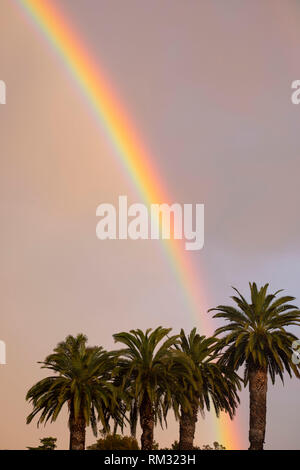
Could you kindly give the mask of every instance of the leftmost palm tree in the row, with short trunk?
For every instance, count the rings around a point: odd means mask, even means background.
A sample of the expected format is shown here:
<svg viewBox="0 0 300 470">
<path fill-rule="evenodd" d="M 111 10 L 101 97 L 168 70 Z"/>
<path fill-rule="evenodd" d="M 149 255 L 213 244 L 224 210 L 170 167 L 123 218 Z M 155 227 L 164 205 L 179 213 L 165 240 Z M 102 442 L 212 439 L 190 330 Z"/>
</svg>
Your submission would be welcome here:
<svg viewBox="0 0 300 470">
<path fill-rule="evenodd" d="M 96 435 L 97 419 L 108 428 L 109 417 L 116 410 L 110 379 L 115 359 L 101 347 L 88 347 L 86 343 L 83 334 L 68 336 L 59 343 L 41 362 L 43 369 L 55 375 L 37 382 L 26 396 L 33 405 L 27 424 L 39 413 L 38 425 L 53 422 L 68 405 L 70 450 L 84 450 L 86 426 L 91 424 Z"/>
</svg>

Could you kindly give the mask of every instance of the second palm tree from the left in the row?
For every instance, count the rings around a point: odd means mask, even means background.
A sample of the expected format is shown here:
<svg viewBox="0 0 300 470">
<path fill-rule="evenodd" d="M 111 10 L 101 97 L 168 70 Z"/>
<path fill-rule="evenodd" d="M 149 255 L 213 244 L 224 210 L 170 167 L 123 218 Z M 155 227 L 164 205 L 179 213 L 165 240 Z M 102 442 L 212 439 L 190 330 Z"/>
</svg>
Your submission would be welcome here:
<svg viewBox="0 0 300 470">
<path fill-rule="evenodd" d="M 119 377 L 123 377 L 123 383 L 127 385 L 131 415 L 135 414 L 135 406 L 139 412 L 142 450 L 152 449 L 154 424 L 165 417 L 166 396 L 171 396 L 176 385 L 170 348 L 178 342 L 178 335 L 168 338 L 170 331 L 171 328 L 159 326 L 154 331 L 149 328 L 145 333 L 137 329 L 113 335 L 116 342 L 126 346 L 117 351 Z M 133 429 L 134 424 L 131 422 Z"/>
</svg>

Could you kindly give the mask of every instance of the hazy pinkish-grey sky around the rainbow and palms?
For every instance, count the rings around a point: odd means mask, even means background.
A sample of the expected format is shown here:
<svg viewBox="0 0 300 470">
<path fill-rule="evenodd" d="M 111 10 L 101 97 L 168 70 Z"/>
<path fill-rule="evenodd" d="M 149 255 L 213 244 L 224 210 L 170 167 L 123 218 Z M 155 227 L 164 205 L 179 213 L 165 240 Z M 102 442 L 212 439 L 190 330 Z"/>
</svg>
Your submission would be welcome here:
<svg viewBox="0 0 300 470">
<path fill-rule="evenodd" d="M 67 448 L 67 416 L 46 429 L 25 424 L 29 387 L 67 334 L 114 348 L 132 328 L 197 326 L 230 302 L 231 286 L 270 283 L 300 298 L 300 79 L 296 0 L 61 0 L 64 15 L 109 77 L 174 202 L 204 203 L 204 248 L 190 254 L 199 313 L 151 240 L 96 238 L 96 207 L 140 202 L 104 129 L 60 57 L 17 0 L 1 0 L 0 216 L 2 293 L 0 448 L 54 435 Z M 201 329 L 202 328 L 202 329 Z M 295 331 L 296 332 L 296 331 Z M 299 448 L 299 383 L 269 384 L 267 449 Z M 234 420 L 248 447 L 248 393 Z M 216 439 L 199 418 L 195 443 Z M 217 436 L 218 437 L 218 436 Z M 155 430 L 161 446 L 178 423 Z M 88 431 L 88 444 L 94 438 Z M 222 443 L 222 442 L 221 442 Z"/>
</svg>

